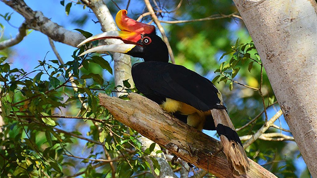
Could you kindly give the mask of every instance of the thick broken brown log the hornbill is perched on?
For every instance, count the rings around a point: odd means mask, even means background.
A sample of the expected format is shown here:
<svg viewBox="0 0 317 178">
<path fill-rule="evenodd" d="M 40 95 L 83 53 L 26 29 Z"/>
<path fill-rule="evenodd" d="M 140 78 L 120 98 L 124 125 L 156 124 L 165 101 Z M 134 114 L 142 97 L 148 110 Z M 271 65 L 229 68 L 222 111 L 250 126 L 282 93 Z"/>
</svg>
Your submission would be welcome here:
<svg viewBox="0 0 317 178">
<path fill-rule="evenodd" d="M 276 177 L 250 159 L 250 170 L 246 175 L 233 175 L 226 156 L 219 151 L 222 149 L 219 141 L 172 118 L 163 112 L 159 105 L 141 95 L 130 93 L 129 98 L 130 100 L 126 101 L 99 94 L 100 104 L 118 121 L 219 178 Z"/>
</svg>

